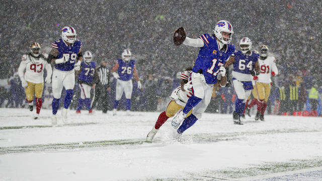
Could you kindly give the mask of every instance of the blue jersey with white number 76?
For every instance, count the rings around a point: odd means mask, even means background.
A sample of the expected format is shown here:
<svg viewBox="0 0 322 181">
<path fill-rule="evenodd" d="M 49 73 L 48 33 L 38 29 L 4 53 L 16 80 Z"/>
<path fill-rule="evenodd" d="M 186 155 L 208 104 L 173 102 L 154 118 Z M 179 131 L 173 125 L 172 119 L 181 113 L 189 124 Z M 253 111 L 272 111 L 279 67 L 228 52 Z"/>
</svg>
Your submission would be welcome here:
<svg viewBox="0 0 322 181">
<path fill-rule="evenodd" d="M 119 63 L 119 76 L 121 80 L 130 80 L 132 79 L 133 69 L 135 65 L 135 60 L 124 61 L 122 59 L 117 59 Z"/>
</svg>

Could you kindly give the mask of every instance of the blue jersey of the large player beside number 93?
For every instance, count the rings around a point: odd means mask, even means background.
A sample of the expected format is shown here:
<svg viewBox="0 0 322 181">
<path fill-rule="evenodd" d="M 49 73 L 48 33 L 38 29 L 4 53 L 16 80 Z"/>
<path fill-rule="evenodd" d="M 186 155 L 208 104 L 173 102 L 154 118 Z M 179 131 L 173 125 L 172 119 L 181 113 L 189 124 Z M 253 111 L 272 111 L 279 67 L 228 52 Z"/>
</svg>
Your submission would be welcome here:
<svg viewBox="0 0 322 181">
<path fill-rule="evenodd" d="M 62 71 L 72 70 L 74 68 L 75 61 L 77 61 L 77 53 L 82 47 L 82 42 L 76 40 L 72 45 L 68 46 L 62 39 L 59 39 L 52 43 L 52 47 L 58 49 L 59 53 L 56 57 L 57 59 L 62 58 L 63 54 L 69 54 L 69 60 L 65 63 L 55 64 L 55 68 Z"/>
</svg>

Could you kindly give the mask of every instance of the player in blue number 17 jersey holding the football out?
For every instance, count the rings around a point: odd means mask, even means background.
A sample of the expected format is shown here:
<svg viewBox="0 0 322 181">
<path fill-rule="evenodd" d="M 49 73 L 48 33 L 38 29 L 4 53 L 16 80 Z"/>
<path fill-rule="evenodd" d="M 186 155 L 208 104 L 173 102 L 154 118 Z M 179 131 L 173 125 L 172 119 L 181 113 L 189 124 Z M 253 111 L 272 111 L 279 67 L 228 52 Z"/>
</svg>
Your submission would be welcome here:
<svg viewBox="0 0 322 181">
<path fill-rule="evenodd" d="M 184 120 L 181 126 L 183 129 L 177 130 L 178 136 L 201 118 L 202 113 L 210 103 L 213 84 L 217 82 L 217 75 L 220 73 L 226 79 L 226 70 L 223 65 L 235 51 L 235 46 L 230 44 L 232 34 L 231 24 L 228 21 L 221 20 L 216 23 L 212 35 L 202 34 L 197 39 L 185 38 L 183 44 L 199 47 L 200 50 L 191 73 L 193 95 L 188 99 L 185 108 L 179 111 L 172 120 L 172 126 L 175 129 Z M 222 87 L 226 85 L 226 81 L 223 82 L 220 84 Z M 193 109 L 192 114 L 185 119 L 191 109 Z"/>
</svg>

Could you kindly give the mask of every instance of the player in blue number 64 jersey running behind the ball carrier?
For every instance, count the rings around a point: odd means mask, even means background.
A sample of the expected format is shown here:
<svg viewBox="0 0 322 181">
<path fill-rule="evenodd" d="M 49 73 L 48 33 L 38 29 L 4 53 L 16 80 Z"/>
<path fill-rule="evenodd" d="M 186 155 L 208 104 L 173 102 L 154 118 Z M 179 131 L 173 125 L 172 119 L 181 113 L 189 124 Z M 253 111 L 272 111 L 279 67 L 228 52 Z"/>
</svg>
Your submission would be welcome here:
<svg viewBox="0 0 322 181">
<path fill-rule="evenodd" d="M 237 95 L 233 112 L 234 124 L 243 124 L 240 122 L 240 116 L 243 115 L 247 98 L 254 88 L 253 76 L 260 74 L 259 54 L 252 51 L 252 44 L 248 37 L 241 38 L 240 50 L 234 52 L 225 64 L 225 67 L 233 64 L 232 84 Z"/>
</svg>

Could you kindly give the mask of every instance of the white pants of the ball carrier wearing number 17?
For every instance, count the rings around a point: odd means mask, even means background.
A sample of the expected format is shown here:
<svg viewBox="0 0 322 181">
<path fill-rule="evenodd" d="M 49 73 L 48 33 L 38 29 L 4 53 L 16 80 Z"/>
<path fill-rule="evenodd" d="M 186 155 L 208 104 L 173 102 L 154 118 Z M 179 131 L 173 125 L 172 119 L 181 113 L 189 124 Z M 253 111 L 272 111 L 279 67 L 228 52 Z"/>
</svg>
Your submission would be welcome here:
<svg viewBox="0 0 322 181">
<path fill-rule="evenodd" d="M 203 75 L 198 76 L 194 72 L 191 74 L 194 96 L 202 99 L 192 110 L 192 114 L 198 119 L 201 118 L 210 103 L 213 88 L 213 85 L 206 83 L 203 78 Z"/>
</svg>

